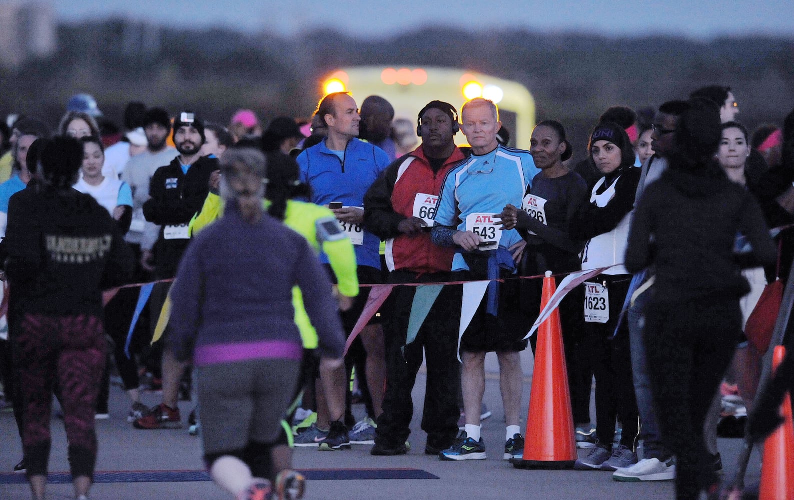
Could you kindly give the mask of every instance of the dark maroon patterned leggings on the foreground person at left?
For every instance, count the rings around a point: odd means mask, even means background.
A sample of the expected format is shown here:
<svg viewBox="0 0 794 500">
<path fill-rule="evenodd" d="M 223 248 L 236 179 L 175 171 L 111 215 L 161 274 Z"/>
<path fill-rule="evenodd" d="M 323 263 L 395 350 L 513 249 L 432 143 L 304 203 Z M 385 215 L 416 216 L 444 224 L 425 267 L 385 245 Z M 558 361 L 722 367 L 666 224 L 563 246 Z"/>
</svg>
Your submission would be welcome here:
<svg viewBox="0 0 794 500">
<path fill-rule="evenodd" d="M 93 478 L 97 456 L 94 411 L 105 367 L 102 318 L 90 314 L 21 317 L 19 344 L 24 401 L 22 448 L 27 475 L 46 475 L 50 452 L 52 390 L 64 406 L 72 477 Z"/>
</svg>

